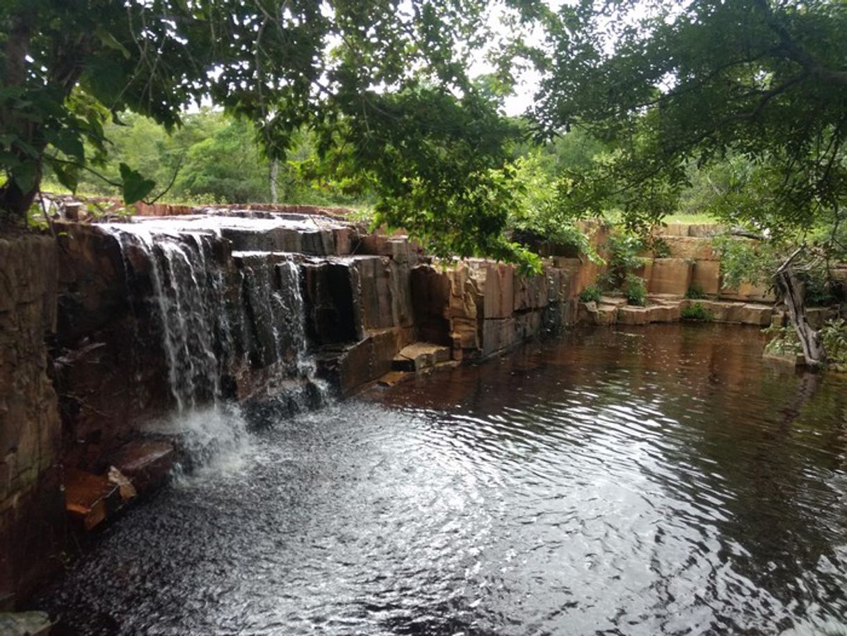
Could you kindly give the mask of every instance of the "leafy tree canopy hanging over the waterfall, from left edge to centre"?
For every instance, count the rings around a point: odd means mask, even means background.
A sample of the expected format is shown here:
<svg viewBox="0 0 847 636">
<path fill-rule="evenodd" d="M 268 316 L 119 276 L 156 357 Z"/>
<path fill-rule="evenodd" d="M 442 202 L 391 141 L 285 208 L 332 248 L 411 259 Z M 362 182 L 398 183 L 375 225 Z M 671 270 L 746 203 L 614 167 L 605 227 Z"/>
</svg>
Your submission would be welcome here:
<svg viewBox="0 0 847 636">
<path fill-rule="evenodd" d="M 469 234 L 512 254 L 501 168 L 516 131 L 463 65 L 490 42 L 486 10 L 484 0 L 7 0 L 0 210 L 23 218 L 46 166 L 72 190 L 80 170 L 97 170 L 109 118 L 131 110 L 173 130 L 211 99 L 252 122 L 271 161 L 303 126 L 322 153 L 342 144 L 346 170 L 379 181 L 385 220 L 441 249 L 478 251 Z M 118 177 L 127 202 L 155 187 L 128 163 Z M 454 205 L 468 214 L 457 220 Z"/>
</svg>

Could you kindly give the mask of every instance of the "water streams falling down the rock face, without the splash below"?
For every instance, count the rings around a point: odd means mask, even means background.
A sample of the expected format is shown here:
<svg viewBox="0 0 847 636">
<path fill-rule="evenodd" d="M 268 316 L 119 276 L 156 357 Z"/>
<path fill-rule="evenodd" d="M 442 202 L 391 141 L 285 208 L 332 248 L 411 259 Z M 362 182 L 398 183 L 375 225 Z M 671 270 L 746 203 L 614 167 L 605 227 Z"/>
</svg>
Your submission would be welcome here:
<svg viewBox="0 0 847 636">
<path fill-rule="evenodd" d="M 314 382 L 295 254 L 227 253 L 210 233 L 105 228 L 121 246 L 133 314 L 158 328 L 177 411 L 303 393 Z"/>
</svg>

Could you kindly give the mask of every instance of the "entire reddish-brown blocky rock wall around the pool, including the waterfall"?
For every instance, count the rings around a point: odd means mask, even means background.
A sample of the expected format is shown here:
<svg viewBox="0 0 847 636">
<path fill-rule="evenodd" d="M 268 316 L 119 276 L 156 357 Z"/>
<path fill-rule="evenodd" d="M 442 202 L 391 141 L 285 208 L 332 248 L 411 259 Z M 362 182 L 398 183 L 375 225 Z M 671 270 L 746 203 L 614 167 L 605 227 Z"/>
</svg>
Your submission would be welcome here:
<svg viewBox="0 0 847 636">
<path fill-rule="evenodd" d="M 405 237 L 363 236 L 319 209 L 146 212 L 174 216 L 66 222 L 58 243 L 0 241 L 0 605 L 47 570 L 60 544 L 60 463 L 66 481 L 79 477 L 67 482 L 69 503 L 96 524 L 111 499 L 89 501 L 80 484 L 108 485 L 111 466 L 136 480 L 148 447 L 153 464 L 172 461 L 173 446 L 139 436 L 175 408 L 215 395 L 248 410 L 285 395 L 294 408 L 312 399 L 313 374 L 346 395 L 577 321 L 676 321 L 694 283 L 716 297 L 703 302 L 717 320 L 765 325 L 772 315 L 749 303 L 767 299 L 762 290 L 717 299 L 726 292 L 709 226 L 669 228 L 670 256 L 641 272 L 657 299 L 634 308 L 579 303 L 604 271 L 588 259 L 551 256 L 540 275 L 523 276 L 484 259 L 435 264 Z M 606 229 L 589 229 L 603 254 Z"/>
</svg>

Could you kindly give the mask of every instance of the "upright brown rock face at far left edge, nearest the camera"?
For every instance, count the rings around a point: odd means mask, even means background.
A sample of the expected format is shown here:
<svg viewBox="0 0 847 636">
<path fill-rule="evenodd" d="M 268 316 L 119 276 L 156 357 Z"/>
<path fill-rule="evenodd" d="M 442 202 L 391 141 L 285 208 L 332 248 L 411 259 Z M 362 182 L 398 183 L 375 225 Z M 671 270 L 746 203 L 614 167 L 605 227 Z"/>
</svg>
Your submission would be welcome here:
<svg viewBox="0 0 847 636">
<path fill-rule="evenodd" d="M 60 423 L 48 377 L 56 243 L 0 238 L 0 609 L 51 567 L 61 544 Z"/>
</svg>

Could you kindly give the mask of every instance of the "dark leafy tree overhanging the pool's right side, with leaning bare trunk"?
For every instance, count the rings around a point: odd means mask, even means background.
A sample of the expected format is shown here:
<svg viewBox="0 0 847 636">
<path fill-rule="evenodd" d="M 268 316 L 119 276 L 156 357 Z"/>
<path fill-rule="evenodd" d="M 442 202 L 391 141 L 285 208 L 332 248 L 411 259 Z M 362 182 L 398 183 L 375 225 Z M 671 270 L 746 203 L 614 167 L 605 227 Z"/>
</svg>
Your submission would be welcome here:
<svg viewBox="0 0 847 636">
<path fill-rule="evenodd" d="M 678 205 L 690 167 L 741 155 L 752 170 L 722 218 L 769 241 L 841 250 L 847 199 L 847 4 L 839 0 L 580 0 L 547 14 L 551 71 L 535 115 L 615 146 L 574 176 L 563 204 L 591 214 L 617 198 L 630 226 Z M 789 254 L 775 272 L 806 361 L 825 353 L 805 322 Z M 843 250 L 842 250 L 843 251 Z"/>
</svg>

